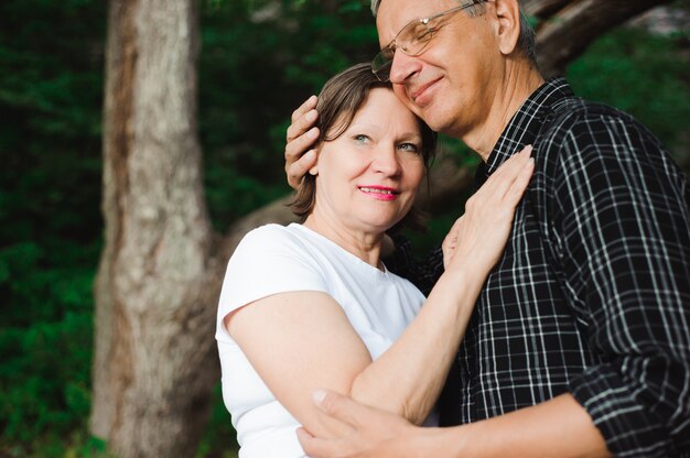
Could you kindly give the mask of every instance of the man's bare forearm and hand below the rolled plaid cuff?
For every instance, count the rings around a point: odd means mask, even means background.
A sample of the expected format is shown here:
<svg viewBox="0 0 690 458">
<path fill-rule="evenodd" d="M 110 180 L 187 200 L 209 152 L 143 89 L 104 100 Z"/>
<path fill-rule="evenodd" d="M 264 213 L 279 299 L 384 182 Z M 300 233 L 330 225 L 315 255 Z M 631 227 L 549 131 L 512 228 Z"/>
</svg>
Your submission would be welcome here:
<svg viewBox="0 0 690 458">
<path fill-rule="evenodd" d="M 387 412 L 333 392 L 319 391 L 316 405 L 347 425 L 336 438 L 304 429 L 298 437 L 314 458 L 505 458 L 608 457 L 589 414 L 569 394 L 506 415 L 452 428 L 420 428 Z"/>
</svg>

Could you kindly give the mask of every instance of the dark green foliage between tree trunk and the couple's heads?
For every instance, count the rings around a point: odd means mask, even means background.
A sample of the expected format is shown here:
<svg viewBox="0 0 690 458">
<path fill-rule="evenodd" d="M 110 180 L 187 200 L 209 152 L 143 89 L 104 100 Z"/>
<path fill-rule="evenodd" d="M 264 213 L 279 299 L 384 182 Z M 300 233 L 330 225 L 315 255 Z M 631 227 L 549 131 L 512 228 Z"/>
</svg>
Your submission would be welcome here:
<svg viewBox="0 0 690 458">
<path fill-rule="evenodd" d="M 202 3 L 200 135 L 219 230 L 289 192 L 289 115 L 334 73 L 375 53 L 366 0 L 339 2 L 337 14 L 321 3 Z"/>
</svg>

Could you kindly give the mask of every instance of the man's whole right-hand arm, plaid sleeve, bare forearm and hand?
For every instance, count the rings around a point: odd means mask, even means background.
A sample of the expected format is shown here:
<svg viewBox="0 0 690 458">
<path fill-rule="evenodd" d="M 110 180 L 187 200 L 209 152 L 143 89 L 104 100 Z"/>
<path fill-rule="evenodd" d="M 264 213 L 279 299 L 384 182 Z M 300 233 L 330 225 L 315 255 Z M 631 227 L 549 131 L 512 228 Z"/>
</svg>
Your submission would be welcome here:
<svg viewBox="0 0 690 458">
<path fill-rule="evenodd" d="M 616 455 L 668 457 L 690 449 L 684 178 L 643 128 L 629 119 L 604 118 L 595 116 L 552 139 L 553 151 L 561 153 L 545 159 L 552 164 L 547 176 L 554 185 L 545 194 L 557 196 L 543 204 L 551 215 L 546 230 L 563 263 L 574 318 L 600 360 L 571 381 L 572 394 L 431 430 L 328 395 L 326 411 L 345 419 L 352 433 L 326 441 L 303 432 L 308 452 L 568 457 L 606 456 L 608 447 Z"/>
</svg>

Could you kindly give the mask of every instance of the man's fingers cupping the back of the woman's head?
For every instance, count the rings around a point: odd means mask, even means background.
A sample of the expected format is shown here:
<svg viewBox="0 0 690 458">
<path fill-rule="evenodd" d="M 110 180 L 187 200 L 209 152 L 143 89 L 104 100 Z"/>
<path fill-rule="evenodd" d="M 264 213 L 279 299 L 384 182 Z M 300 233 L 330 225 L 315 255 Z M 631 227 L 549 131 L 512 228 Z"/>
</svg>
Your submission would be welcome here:
<svg viewBox="0 0 690 458">
<path fill-rule="evenodd" d="M 313 127 L 316 112 L 316 96 L 311 96 L 292 113 L 292 124 L 285 139 L 285 174 L 288 184 L 297 189 L 302 177 L 316 164 L 316 151 L 309 150 L 319 138 L 319 128 Z M 309 151 L 308 151 L 309 150 Z"/>
</svg>

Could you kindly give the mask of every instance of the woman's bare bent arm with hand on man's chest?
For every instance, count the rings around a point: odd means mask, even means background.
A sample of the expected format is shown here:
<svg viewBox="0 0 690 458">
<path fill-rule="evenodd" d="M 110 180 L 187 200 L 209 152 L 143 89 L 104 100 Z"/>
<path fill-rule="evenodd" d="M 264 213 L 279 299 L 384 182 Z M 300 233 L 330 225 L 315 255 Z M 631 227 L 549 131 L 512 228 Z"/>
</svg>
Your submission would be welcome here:
<svg viewBox="0 0 690 458">
<path fill-rule="evenodd" d="M 325 293 L 282 293 L 257 301 L 225 319 L 230 336 L 276 397 L 314 434 L 328 435 L 310 397 L 323 386 L 420 424 L 503 251 L 531 171 L 529 152 L 516 154 L 467 203 L 446 272 L 418 317 L 376 361 L 342 307 Z"/>
</svg>

